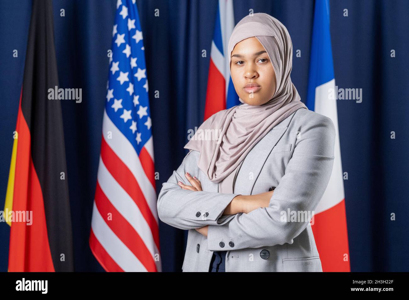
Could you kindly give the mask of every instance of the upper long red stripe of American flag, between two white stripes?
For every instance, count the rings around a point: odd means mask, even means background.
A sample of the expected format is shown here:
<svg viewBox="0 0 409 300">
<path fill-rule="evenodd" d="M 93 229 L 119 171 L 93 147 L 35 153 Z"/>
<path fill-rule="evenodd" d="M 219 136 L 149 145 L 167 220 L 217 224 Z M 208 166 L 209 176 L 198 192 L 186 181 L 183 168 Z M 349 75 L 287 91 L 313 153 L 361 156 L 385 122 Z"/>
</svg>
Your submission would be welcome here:
<svg viewBox="0 0 409 300">
<path fill-rule="evenodd" d="M 101 142 L 101 158 L 112 177 L 115 178 L 118 184 L 126 191 L 126 193 L 128 193 L 130 198 L 132 198 L 138 206 L 146 223 L 148 223 L 148 226 L 151 228 L 153 240 L 159 250 L 159 227 L 148 203 L 146 202 L 145 196 L 132 172 L 126 167 L 126 164 L 122 162 L 115 152 L 112 151 L 103 137 Z"/>
</svg>

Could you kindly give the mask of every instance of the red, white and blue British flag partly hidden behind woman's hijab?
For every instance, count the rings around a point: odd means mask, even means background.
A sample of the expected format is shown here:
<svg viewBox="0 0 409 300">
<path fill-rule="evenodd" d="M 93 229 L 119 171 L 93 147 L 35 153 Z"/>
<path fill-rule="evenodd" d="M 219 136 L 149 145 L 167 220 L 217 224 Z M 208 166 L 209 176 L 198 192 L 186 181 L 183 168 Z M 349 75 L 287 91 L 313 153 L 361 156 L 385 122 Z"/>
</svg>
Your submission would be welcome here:
<svg viewBox="0 0 409 300">
<path fill-rule="evenodd" d="M 218 111 L 241 104 L 231 81 L 227 57 L 227 44 L 234 26 L 233 0 L 219 0 L 211 41 L 204 120 Z"/>
</svg>

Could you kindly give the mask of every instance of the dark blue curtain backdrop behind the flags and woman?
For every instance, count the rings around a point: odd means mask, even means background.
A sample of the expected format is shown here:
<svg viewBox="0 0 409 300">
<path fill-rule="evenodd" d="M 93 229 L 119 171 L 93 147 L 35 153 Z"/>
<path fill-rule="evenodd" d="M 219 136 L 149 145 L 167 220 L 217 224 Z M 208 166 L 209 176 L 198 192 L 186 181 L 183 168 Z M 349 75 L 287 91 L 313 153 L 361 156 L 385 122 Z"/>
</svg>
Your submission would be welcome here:
<svg viewBox="0 0 409 300">
<path fill-rule="evenodd" d="M 103 271 L 88 238 L 116 0 L 54 0 L 53 5 L 60 87 L 82 88 L 83 96 L 81 103 L 62 100 L 75 269 Z M 137 5 L 159 193 L 186 154 L 187 130 L 203 121 L 217 0 L 137 0 Z M 160 16 L 155 17 L 155 9 Z M 288 28 L 294 49 L 291 77 L 305 102 L 314 1 L 235 0 L 236 23 L 249 9 L 269 13 Z M 352 271 L 409 271 L 408 13 L 407 0 L 330 1 L 335 82 L 340 88 L 362 88 L 362 103 L 337 100 L 342 166 L 348 172 L 344 187 Z M 30 0 L 0 1 L 1 210 L 30 15 Z M 295 56 L 297 50 L 301 57 Z M 155 91 L 160 98 L 154 98 Z M 181 271 L 186 236 L 187 231 L 160 223 L 164 271 Z M 9 226 L 1 223 L 0 271 L 7 271 L 8 247 Z"/>
</svg>

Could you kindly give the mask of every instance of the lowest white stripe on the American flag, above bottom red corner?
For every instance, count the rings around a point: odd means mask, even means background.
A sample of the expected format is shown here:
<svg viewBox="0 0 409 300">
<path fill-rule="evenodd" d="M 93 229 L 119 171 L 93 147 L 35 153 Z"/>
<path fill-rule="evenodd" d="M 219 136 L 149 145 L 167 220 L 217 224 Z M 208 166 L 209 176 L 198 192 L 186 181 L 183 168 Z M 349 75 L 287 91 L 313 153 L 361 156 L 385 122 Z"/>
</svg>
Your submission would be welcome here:
<svg viewBox="0 0 409 300">
<path fill-rule="evenodd" d="M 112 260 L 126 272 L 146 272 L 144 265 L 126 247 L 105 223 L 94 201 L 92 209 L 92 231 Z"/>
</svg>

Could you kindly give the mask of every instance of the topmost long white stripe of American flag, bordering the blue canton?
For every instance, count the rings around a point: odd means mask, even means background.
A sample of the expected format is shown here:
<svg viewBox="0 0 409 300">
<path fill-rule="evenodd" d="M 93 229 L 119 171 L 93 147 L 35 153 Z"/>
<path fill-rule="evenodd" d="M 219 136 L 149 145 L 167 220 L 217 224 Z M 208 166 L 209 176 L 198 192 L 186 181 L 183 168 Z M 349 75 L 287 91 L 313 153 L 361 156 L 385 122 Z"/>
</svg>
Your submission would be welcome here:
<svg viewBox="0 0 409 300">
<path fill-rule="evenodd" d="M 106 138 L 107 132 L 112 132 L 112 139 Z M 152 211 L 156 222 L 159 224 L 159 218 L 157 216 L 157 199 L 156 191 L 153 188 L 151 182 L 146 177 L 145 171 L 142 168 L 139 156 L 137 155 L 135 148 L 128 141 L 128 139 L 117 129 L 114 123 L 104 111 L 103 114 L 103 125 L 102 125 L 102 136 L 112 151 L 126 164 L 128 169 L 131 171 L 136 181 L 139 184 L 146 202 Z"/>
</svg>

